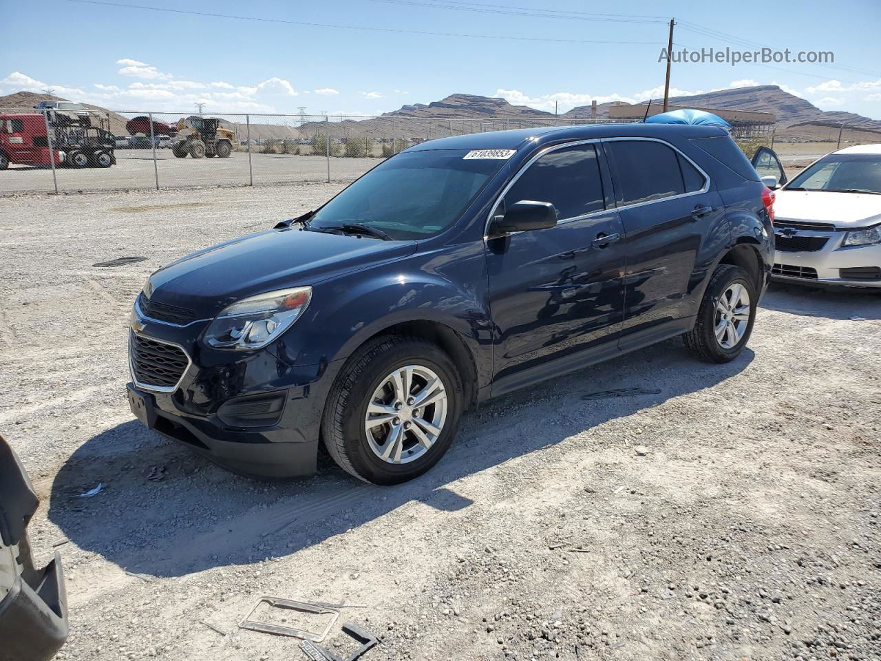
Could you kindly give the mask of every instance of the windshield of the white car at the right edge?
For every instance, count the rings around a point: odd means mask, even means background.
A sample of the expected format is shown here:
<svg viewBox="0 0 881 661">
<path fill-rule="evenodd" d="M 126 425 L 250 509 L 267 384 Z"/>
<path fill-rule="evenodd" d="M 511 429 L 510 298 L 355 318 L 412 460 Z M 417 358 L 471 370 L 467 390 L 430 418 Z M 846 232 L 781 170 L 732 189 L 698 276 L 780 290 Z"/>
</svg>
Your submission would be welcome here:
<svg viewBox="0 0 881 661">
<path fill-rule="evenodd" d="M 783 188 L 881 195 L 881 154 L 830 154 Z"/>
</svg>

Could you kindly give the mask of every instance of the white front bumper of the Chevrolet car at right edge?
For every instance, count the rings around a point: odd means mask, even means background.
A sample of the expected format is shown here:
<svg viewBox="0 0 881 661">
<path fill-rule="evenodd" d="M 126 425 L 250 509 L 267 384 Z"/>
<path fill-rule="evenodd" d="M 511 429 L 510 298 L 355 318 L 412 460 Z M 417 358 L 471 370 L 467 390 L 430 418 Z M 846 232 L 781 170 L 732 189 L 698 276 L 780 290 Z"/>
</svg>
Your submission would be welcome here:
<svg viewBox="0 0 881 661">
<path fill-rule="evenodd" d="M 803 285 L 839 285 L 881 287 L 881 245 L 841 247 L 847 232 L 799 232 L 799 236 L 817 239 L 821 249 L 801 252 L 777 250 L 771 277 L 781 282 Z M 854 274 L 860 273 L 855 278 Z"/>
</svg>

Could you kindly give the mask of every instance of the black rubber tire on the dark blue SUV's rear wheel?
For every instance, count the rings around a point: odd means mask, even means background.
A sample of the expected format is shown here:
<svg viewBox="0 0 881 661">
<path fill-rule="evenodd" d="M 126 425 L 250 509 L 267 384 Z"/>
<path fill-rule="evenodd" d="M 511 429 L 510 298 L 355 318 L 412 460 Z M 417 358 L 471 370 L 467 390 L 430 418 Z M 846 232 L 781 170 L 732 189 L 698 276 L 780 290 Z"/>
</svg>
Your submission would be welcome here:
<svg viewBox="0 0 881 661">
<path fill-rule="evenodd" d="M 743 286 L 749 296 L 749 319 L 745 321 L 746 327 L 737 343 L 726 347 L 715 334 L 717 324 L 722 320 L 717 305 L 722 297 L 726 297 L 731 288 L 737 285 Z M 720 264 L 713 272 L 707 291 L 704 292 L 704 298 L 700 301 L 700 310 L 694 328 L 683 336 L 685 348 L 696 358 L 707 362 L 722 363 L 736 359 L 752 334 L 758 298 L 755 283 L 746 271 L 732 264 Z M 725 335 L 722 337 L 728 338 Z"/>
</svg>

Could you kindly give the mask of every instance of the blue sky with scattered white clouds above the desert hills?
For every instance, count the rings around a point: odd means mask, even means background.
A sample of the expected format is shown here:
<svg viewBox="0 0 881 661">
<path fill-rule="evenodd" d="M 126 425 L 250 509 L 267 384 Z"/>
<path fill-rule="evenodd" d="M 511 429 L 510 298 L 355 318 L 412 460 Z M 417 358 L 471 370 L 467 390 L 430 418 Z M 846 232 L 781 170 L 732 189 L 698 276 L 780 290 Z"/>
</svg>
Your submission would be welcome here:
<svg viewBox="0 0 881 661">
<path fill-rule="evenodd" d="M 878 0 L 3 4 L 4 25 L 30 29 L 4 31 L 0 94 L 52 89 L 122 112 L 204 103 L 216 114 L 379 115 L 471 93 L 564 113 L 658 99 L 675 19 L 674 50 L 831 51 L 834 63 L 674 62 L 673 96 L 780 85 L 823 110 L 881 119 Z"/>
</svg>

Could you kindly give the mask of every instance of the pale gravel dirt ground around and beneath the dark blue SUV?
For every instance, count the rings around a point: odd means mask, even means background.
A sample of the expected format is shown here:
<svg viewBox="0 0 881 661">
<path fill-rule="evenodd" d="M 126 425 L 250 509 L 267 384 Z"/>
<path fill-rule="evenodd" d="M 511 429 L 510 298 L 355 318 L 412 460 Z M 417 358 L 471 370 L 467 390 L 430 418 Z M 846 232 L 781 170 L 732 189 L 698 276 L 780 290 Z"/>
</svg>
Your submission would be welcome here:
<svg viewBox="0 0 881 661">
<path fill-rule="evenodd" d="M 357 622 L 365 661 L 881 658 L 878 294 L 772 286 L 738 360 L 674 340 L 501 398 L 401 486 L 329 459 L 251 481 L 144 431 L 144 277 L 336 189 L 0 199 L 0 433 L 41 495 L 38 558 L 63 556 L 60 658 L 306 659 L 238 628 L 264 595 L 365 606 L 325 643 Z M 148 259 L 92 266 L 118 256 Z"/>
</svg>

